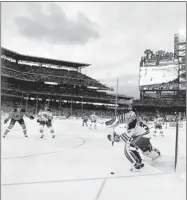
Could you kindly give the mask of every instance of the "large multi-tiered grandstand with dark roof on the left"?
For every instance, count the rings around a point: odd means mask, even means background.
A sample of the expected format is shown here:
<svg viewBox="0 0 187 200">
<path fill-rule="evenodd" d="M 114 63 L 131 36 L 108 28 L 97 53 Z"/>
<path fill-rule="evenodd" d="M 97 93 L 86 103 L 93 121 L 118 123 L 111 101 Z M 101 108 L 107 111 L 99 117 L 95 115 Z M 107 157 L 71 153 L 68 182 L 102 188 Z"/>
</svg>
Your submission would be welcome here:
<svg viewBox="0 0 187 200">
<path fill-rule="evenodd" d="M 56 115 L 68 111 L 80 116 L 95 111 L 97 115 L 114 115 L 112 88 L 83 74 L 90 64 L 21 55 L 1 48 L 1 107 L 9 112 L 17 103 L 37 113 L 48 103 Z M 119 95 L 118 110 L 128 109 L 131 97 Z"/>
</svg>

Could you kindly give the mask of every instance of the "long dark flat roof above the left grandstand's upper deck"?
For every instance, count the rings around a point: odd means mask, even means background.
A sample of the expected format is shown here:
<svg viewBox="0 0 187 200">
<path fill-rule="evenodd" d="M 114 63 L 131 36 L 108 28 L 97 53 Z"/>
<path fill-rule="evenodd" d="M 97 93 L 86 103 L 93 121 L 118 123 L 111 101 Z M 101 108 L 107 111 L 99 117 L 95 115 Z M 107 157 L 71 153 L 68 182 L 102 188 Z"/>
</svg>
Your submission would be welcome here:
<svg viewBox="0 0 187 200">
<path fill-rule="evenodd" d="M 15 60 L 22 60 L 26 62 L 36 62 L 42 64 L 51 64 L 51 65 L 58 65 L 59 67 L 70 67 L 70 68 L 84 68 L 88 67 L 91 64 L 85 63 L 77 63 L 77 62 L 69 62 L 63 60 L 56 60 L 56 59 L 49 59 L 49 58 L 42 58 L 42 57 L 35 57 L 35 56 L 28 56 L 16 53 L 14 51 L 8 50 L 4 47 L 1 48 L 1 55 L 5 55 L 7 57 L 13 58 Z"/>
</svg>

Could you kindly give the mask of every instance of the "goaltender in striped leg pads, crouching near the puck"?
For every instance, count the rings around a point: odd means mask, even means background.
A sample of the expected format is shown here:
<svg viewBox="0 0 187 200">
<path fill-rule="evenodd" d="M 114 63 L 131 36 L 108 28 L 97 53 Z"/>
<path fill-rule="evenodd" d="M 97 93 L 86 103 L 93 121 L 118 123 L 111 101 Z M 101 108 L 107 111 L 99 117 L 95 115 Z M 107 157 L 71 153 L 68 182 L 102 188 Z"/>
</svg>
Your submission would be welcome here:
<svg viewBox="0 0 187 200">
<path fill-rule="evenodd" d="M 144 156 L 156 159 L 160 157 L 160 151 L 153 148 L 150 143 L 149 128 L 142 121 L 139 121 L 136 114 L 133 111 L 129 111 L 126 114 L 117 116 L 110 121 L 105 122 L 106 126 L 117 127 L 121 123 L 127 124 L 127 131 L 120 137 L 125 142 L 125 156 L 131 162 L 132 170 L 139 170 L 144 167 L 142 158 L 139 152 L 142 152 Z M 108 135 L 108 139 L 111 141 L 112 136 Z M 114 137 L 114 141 L 115 137 Z M 117 142 L 117 141 L 116 141 Z"/>
</svg>

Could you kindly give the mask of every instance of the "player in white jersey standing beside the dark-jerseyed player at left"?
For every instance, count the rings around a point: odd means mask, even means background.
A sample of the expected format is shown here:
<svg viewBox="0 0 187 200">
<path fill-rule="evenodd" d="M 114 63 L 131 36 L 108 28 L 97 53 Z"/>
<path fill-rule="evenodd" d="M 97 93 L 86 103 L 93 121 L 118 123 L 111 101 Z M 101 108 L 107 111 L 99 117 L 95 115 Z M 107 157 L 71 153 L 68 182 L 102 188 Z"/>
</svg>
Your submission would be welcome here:
<svg viewBox="0 0 187 200">
<path fill-rule="evenodd" d="M 48 106 L 45 105 L 44 109 L 39 111 L 38 119 L 37 119 L 37 122 L 40 124 L 40 134 L 41 134 L 40 138 L 44 137 L 43 129 L 44 129 L 45 125 L 50 129 L 52 138 L 55 137 L 54 129 L 52 127 L 52 119 L 53 119 L 53 114 L 50 111 L 50 109 L 48 108 Z"/>
</svg>

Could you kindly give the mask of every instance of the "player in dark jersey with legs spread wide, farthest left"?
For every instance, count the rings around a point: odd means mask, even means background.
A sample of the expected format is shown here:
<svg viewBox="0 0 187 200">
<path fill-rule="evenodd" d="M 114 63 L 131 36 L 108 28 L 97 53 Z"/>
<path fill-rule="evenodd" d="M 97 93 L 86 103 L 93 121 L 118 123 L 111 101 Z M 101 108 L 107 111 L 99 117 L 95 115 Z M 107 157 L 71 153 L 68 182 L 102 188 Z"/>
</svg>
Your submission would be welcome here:
<svg viewBox="0 0 187 200">
<path fill-rule="evenodd" d="M 18 122 L 22 129 L 23 129 L 23 134 L 25 137 L 27 136 L 27 129 L 26 129 L 26 125 L 25 125 L 25 121 L 23 119 L 23 117 L 26 116 L 30 119 L 34 119 L 34 117 L 32 115 L 29 115 L 25 109 L 23 109 L 21 107 L 21 105 L 18 105 L 17 108 L 15 108 L 10 114 L 9 116 L 4 120 L 4 123 L 6 124 L 10 119 L 10 124 L 9 126 L 6 128 L 5 133 L 3 135 L 3 137 L 5 138 L 6 135 L 9 133 L 9 131 L 14 127 L 15 123 Z"/>
</svg>

